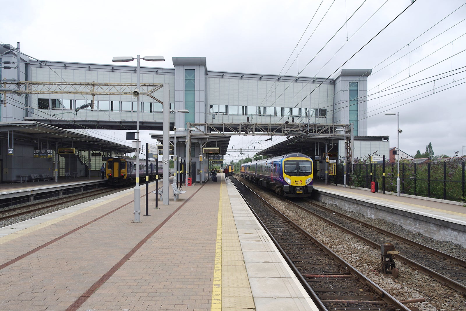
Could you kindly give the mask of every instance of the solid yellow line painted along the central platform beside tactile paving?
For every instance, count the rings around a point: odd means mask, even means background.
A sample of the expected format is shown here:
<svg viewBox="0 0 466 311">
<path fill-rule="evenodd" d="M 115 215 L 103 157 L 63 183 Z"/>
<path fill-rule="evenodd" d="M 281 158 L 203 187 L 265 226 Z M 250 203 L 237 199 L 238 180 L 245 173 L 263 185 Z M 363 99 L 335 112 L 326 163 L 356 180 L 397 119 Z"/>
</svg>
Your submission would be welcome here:
<svg viewBox="0 0 466 311">
<path fill-rule="evenodd" d="M 219 214 L 217 216 L 217 242 L 213 269 L 211 310 L 222 310 L 222 182 L 220 182 Z"/>
</svg>

